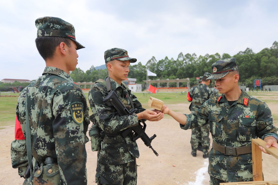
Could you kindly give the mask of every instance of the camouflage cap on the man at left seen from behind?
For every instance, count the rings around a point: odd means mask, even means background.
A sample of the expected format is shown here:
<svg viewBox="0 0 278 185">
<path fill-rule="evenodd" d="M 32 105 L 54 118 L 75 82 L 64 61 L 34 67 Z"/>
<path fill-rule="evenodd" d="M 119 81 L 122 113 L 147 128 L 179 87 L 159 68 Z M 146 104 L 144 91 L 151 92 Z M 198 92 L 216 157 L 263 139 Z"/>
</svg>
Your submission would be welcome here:
<svg viewBox="0 0 278 185">
<path fill-rule="evenodd" d="M 75 41 L 77 49 L 85 48 L 75 40 L 74 26 L 58 17 L 39 17 L 35 21 L 38 29 L 37 37 L 65 37 Z"/>
</svg>

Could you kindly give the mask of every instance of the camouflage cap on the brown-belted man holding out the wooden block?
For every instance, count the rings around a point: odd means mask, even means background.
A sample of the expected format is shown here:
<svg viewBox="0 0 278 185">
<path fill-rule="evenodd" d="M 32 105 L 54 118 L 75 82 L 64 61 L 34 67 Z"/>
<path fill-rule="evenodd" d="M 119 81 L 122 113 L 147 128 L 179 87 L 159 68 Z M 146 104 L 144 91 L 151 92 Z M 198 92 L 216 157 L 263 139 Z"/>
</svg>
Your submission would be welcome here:
<svg viewBox="0 0 278 185">
<path fill-rule="evenodd" d="M 238 70 L 235 58 L 226 58 L 216 61 L 211 66 L 212 75 L 207 79 L 219 79 L 230 73 L 231 71 Z"/>
</svg>

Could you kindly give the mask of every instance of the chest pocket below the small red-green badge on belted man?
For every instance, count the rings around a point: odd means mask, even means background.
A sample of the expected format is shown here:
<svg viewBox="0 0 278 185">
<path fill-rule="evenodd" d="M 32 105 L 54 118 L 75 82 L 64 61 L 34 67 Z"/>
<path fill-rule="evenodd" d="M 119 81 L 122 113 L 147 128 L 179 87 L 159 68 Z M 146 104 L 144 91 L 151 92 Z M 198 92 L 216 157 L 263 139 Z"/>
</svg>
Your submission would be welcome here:
<svg viewBox="0 0 278 185">
<path fill-rule="evenodd" d="M 251 141 L 251 139 L 257 138 L 256 120 L 254 118 L 240 117 L 238 133 L 239 141 Z"/>
</svg>

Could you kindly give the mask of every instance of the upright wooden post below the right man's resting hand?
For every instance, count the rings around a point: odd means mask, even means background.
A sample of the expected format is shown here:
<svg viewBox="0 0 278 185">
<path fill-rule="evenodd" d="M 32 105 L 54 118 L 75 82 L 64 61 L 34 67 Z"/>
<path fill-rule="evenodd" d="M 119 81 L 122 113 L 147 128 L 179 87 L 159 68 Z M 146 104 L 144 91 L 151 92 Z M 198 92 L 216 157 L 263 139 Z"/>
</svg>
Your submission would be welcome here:
<svg viewBox="0 0 278 185">
<path fill-rule="evenodd" d="M 252 139 L 253 181 L 262 181 L 262 151 L 253 140 L 254 139 Z"/>
</svg>

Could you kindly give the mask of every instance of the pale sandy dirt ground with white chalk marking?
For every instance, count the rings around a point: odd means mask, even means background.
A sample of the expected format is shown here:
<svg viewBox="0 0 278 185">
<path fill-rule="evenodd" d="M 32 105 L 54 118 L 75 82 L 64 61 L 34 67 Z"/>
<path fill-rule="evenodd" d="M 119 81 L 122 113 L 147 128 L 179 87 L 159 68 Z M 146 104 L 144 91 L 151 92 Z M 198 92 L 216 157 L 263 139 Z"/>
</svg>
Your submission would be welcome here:
<svg viewBox="0 0 278 185">
<path fill-rule="evenodd" d="M 276 97 L 277 98 L 277 97 Z M 187 103 L 169 105 L 172 110 L 189 113 Z M 268 103 L 272 114 L 278 114 L 278 105 Z M 190 136 L 191 130 L 182 130 L 178 122 L 166 115 L 161 121 L 147 121 L 148 136 L 156 134 L 152 141 L 153 148 L 159 156 L 155 156 L 142 140 L 138 140 L 140 157 L 137 160 L 137 184 L 209 184 L 207 172 L 209 160 L 203 159 L 202 152 L 197 151 L 197 157 L 192 157 Z M 278 126 L 278 121 L 274 120 Z M 211 138 L 211 136 L 210 136 Z M 17 174 L 17 169 L 11 167 L 10 146 L 14 139 L 14 127 L 0 130 L 0 184 L 22 184 L 24 179 Z M 212 139 L 211 139 L 212 143 Z M 88 184 L 95 184 L 96 154 L 91 151 L 90 142 L 86 144 Z M 278 180 L 278 159 L 263 153 L 263 173 L 265 180 Z M 276 170 L 274 170 L 276 169 Z"/>
</svg>

